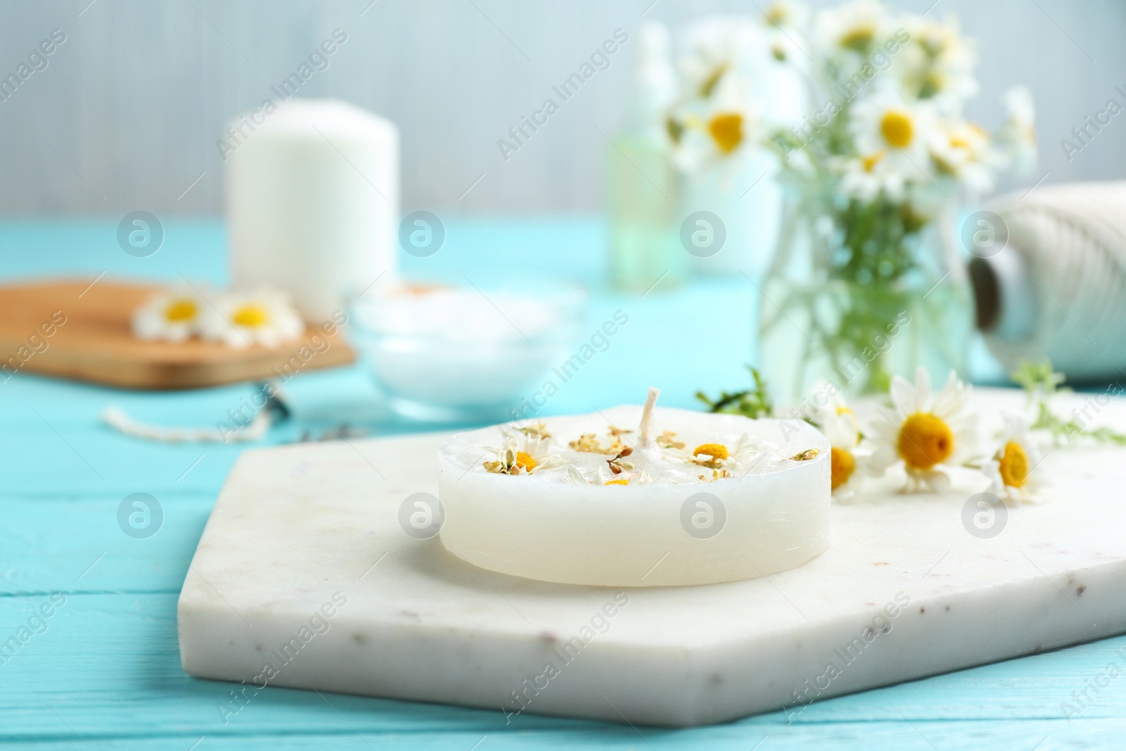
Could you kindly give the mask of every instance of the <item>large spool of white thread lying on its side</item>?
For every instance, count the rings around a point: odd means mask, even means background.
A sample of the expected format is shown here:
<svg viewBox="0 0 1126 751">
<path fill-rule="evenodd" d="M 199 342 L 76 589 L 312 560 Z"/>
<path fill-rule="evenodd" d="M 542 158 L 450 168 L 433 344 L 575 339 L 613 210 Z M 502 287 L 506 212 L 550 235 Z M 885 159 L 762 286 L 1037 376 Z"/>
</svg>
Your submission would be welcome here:
<svg viewBox="0 0 1126 751">
<path fill-rule="evenodd" d="M 993 212 L 1008 242 L 969 265 L 990 351 L 1010 370 L 1049 357 L 1069 381 L 1126 377 L 1126 181 L 1042 187 Z"/>
</svg>

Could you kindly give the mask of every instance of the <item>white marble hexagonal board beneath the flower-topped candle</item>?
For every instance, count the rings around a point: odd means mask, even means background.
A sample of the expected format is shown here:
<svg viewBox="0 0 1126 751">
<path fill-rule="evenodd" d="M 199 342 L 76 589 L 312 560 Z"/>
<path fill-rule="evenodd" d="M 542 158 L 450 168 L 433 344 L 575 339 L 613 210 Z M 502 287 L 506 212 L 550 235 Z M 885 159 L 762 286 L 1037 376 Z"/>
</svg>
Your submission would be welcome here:
<svg viewBox="0 0 1126 751">
<path fill-rule="evenodd" d="M 978 393 L 973 406 L 991 415 L 1021 399 Z M 1085 403 L 1075 395 L 1060 409 Z M 1126 426 L 1126 405 L 1100 406 L 1098 423 Z M 615 590 L 475 569 L 438 538 L 405 534 L 400 506 L 437 492 L 441 439 L 247 452 L 180 594 L 184 669 L 248 685 L 696 725 L 801 712 L 815 698 L 1126 631 L 1120 448 L 1049 452 L 1037 472 L 1053 479 L 1053 500 L 1009 509 L 992 537 L 964 522 L 983 479 L 965 471 L 958 491 L 900 495 L 893 475 L 881 485 L 888 492 L 834 504 L 829 551 L 798 569 Z"/>
</svg>

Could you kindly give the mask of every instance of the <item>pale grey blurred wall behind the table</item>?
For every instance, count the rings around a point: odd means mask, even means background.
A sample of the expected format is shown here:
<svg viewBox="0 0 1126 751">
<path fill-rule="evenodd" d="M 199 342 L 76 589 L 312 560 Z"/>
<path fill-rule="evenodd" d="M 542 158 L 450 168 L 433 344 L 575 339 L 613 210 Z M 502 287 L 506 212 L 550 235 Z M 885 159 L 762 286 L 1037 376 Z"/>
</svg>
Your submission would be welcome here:
<svg viewBox="0 0 1126 751">
<path fill-rule="evenodd" d="M 272 96 L 270 86 L 338 27 L 348 41 L 302 95 L 349 99 L 399 123 L 404 208 L 600 206 L 599 128 L 613 133 L 619 119 L 628 44 L 507 162 L 497 140 L 615 28 L 635 29 L 652 0 L 369 1 L 5 2 L 0 74 L 53 28 L 66 42 L 0 102 L 0 211 L 222 211 L 221 127 Z M 646 18 L 674 27 L 740 8 L 756 3 L 658 0 Z M 1060 140 L 1108 98 L 1126 104 L 1114 90 L 1126 90 L 1126 3 L 939 0 L 930 12 L 957 14 L 980 41 L 983 91 L 973 116 L 995 122 L 999 91 L 1031 86 L 1042 143 L 1033 181 L 1044 172 L 1048 182 L 1124 176 L 1126 115 L 1070 163 Z"/>
</svg>

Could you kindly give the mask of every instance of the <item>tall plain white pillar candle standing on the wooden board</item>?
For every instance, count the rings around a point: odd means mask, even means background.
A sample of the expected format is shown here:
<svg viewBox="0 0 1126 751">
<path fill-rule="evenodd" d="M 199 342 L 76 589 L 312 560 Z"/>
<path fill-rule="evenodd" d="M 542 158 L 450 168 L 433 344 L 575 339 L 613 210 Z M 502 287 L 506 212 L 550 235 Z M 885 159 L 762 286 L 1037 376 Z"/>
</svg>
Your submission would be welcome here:
<svg viewBox="0 0 1126 751">
<path fill-rule="evenodd" d="M 235 135 L 232 135 L 232 132 Z M 395 277 L 399 129 L 354 105 L 291 99 L 227 128 L 231 278 L 287 289 L 310 321 Z"/>
</svg>

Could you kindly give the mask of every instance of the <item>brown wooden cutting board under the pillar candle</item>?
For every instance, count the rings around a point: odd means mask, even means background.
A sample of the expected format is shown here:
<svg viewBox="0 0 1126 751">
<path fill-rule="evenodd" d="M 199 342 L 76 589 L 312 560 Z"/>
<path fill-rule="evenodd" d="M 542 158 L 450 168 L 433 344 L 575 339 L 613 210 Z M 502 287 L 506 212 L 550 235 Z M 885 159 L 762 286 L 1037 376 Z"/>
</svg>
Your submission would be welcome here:
<svg viewBox="0 0 1126 751">
<path fill-rule="evenodd" d="M 339 329 L 329 336 L 319 327 L 276 349 L 141 341 L 129 316 L 158 288 L 105 279 L 0 287 L 0 382 L 38 373 L 127 388 L 198 388 L 356 359 Z"/>
</svg>

